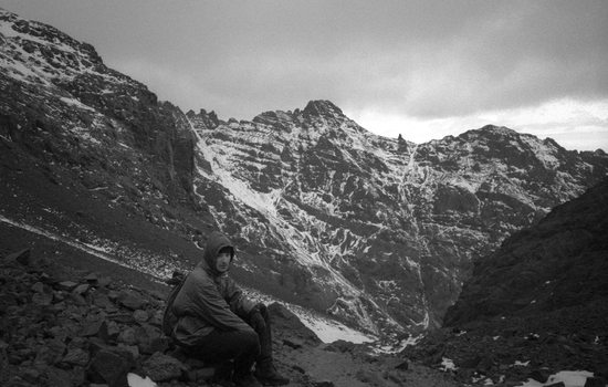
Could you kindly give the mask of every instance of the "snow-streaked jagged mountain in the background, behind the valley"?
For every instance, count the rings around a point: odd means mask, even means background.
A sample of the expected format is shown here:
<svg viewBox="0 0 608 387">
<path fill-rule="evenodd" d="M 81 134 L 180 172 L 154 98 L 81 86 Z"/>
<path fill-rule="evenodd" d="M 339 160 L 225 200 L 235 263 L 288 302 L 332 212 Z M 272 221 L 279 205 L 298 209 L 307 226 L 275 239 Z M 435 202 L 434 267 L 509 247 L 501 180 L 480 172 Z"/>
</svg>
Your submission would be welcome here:
<svg viewBox="0 0 608 387">
<path fill-rule="evenodd" d="M 252 253 L 249 270 L 373 332 L 439 325 L 474 258 L 607 170 L 602 151 L 505 127 L 384 138 L 327 101 L 252 122 L 188 118 L 197 192 Z"/>
</svg>

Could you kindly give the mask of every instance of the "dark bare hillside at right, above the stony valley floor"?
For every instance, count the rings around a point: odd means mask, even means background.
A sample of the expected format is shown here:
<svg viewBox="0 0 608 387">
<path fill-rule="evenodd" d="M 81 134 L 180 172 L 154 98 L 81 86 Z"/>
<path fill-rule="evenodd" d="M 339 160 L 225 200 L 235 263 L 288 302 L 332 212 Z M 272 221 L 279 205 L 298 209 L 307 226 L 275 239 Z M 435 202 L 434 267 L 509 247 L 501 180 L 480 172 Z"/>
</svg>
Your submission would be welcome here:
<svg viewBox="0 0 608 387">
<path fill-rule="evenodd" d="M 445 324 L 606 304 L 607 237 L 605 179 L 479 260 L 460 299 L 448 311 Z"/>
</svg>

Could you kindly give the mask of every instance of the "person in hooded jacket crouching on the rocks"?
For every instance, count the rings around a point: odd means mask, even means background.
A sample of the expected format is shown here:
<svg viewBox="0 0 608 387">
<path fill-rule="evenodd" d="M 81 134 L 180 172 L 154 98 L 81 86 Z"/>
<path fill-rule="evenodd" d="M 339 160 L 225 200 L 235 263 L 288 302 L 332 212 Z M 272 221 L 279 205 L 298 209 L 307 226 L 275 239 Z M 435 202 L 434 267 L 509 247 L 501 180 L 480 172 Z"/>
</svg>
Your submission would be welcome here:
<svg viewBox="0 0 608 387">
<path fill-rule="evenodd" d="M 169 295 L 164 325 L 170 326 L 164 331 L 203 362 L 233 360 L 237 386 L 286 385 L 290 380 L 273 363 L 269 311 L 249 300 L 228 275 L 233 260 L 230 240 L 211 233 L 200 263 Z"/>
</svg>

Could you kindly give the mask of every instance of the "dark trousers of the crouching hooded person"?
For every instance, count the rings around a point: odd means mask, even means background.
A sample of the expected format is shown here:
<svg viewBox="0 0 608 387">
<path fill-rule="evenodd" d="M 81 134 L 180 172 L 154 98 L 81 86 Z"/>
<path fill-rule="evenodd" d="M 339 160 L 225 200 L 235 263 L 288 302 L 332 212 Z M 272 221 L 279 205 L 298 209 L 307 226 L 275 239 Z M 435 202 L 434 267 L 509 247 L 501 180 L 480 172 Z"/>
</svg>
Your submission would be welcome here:
<svg viewBox="0 0 608 387">
<path fill-rule="evenodd" d="M 254 363 L 258 366 L 272 363 L 272 336 L 270 316 L 265 307 L 261 308 L 264 326 L 251 331 L 214 330 L 202 337 L 196 345 L 186 349 L 189 355 L 208 363 L 234 360 L 234 375 L 242 376 L 251 372 Z M 250 322 L 248 322 L 250 323 Z"/>
</svg>

